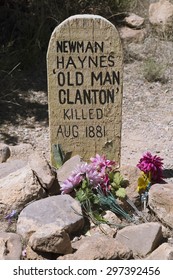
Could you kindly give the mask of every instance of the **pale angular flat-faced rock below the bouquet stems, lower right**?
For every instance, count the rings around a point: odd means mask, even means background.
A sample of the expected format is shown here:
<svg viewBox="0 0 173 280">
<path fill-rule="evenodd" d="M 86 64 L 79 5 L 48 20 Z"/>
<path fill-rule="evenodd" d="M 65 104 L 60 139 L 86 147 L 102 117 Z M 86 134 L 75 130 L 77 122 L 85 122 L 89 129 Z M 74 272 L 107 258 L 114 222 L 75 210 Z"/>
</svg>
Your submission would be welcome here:
<svg viewBox="0 0 173 280">
<path fill-rule="evenodd" d="M 134 255 L 146 256 L 161 244 L 163 236 L 159 223 L 145 223 L 121 229 L 115 239 L 130 248 Z"/>
</svg>

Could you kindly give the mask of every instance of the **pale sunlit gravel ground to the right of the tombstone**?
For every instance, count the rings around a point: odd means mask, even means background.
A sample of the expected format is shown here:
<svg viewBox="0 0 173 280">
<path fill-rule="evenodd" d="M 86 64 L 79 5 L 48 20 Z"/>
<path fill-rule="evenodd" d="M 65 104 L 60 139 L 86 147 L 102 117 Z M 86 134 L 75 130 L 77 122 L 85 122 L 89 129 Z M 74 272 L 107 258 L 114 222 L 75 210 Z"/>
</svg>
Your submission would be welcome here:
<svg viewBox="0 0 173 280">
<path fill-rule="evenodd" d="M 148 38 L 143 45 L 128 47 L 139 60 L 124 68 L 122 163 L 134 165 L 143 152 L 151 151 L 164 159 L 165 168 L 173 169 L 173 43 Z M 144 58 L 153 52 L 163 65 L 164 84 L 144 78 Z"/>
</svg>

